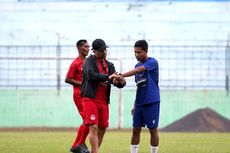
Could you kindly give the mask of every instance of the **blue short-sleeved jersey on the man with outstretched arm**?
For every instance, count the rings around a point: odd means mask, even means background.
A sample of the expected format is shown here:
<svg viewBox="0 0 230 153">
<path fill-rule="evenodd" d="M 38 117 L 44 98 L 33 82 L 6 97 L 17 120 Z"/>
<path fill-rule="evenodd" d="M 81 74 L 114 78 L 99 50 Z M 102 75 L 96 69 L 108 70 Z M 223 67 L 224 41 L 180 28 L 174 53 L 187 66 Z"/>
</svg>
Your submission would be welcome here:
<svg viewBox="0 0 230 153">
<path fill-rule="evenodd" d="M 144 63 L 137 63 L 135 68 L 144 66 L 145 71 L 135 74 L 137 85 L 135 106 L 160 102 L 159 67 L 155 58 L 149 57 Z"/>
</svg>

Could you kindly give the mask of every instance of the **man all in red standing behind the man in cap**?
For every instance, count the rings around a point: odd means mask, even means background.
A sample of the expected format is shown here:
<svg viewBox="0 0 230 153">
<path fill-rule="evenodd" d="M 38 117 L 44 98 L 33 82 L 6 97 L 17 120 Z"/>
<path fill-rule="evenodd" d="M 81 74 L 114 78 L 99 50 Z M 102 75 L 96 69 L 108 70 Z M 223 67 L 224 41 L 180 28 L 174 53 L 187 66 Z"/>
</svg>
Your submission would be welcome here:
<svg viewBox="0 0 230 153">
<path fill-rule="evenodd" d="M 82 105 L 82 98 L 80 96 L 81 84 L 82 84 L 82 64 L 86 56 L 89 53 L 89 44 L 87 40 L 81 39 L 76 43 L 78 50 L 78 57 L 74 59 L 69 67 L 68 73 L 66 75 L 65 82 L 73 85 L 73 100 L 78 109 L 79 114 L 84 121 L 84 109 Z M 85 140 L 89 133 L 89 127 L 85 126 L 84 122 L 78 128 L 77 136 L 74 143 L 70 149 L 73 153 L 89 153 Z"/>
</svg>

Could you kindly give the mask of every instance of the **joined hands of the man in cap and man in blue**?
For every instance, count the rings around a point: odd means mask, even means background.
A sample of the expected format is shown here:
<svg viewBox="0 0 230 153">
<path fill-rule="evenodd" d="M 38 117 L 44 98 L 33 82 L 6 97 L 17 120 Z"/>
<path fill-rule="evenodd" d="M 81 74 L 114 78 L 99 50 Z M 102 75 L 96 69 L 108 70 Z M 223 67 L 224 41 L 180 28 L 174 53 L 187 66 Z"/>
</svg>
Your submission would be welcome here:
<svg viewBox="0 0 230 153">
<path fill-rule="evenodd" d="M 109 76 L 112 84 L 118 88 L 123 88 L 126 85 L 125 78 L 121 75 L 121 73 L 115 72 Z"/>
</svg>

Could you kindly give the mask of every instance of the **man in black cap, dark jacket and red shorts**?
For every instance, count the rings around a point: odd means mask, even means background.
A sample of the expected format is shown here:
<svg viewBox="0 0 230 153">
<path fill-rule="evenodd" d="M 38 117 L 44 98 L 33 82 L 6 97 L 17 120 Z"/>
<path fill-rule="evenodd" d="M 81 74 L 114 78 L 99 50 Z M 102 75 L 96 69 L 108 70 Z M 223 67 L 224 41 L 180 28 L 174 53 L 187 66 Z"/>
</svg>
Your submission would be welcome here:
<svg viewBox="0 0 230 153">
<path fill-rule="evenodd" d="M 85 124 L 89 126 L 91 153 L 98 153 L 106 128 L 109 126 L 109 102 L 111 84 L 118 88 L 126 82 L 115 83 L 119 76 L 113 63 L 106 60 L 107 45 L 102 39 L 93 41 L 94 55 L 83 64 L 81 96 L 85 110 Z M 114 83 L 113 83 L 114 82 Z"/>
</svg>

